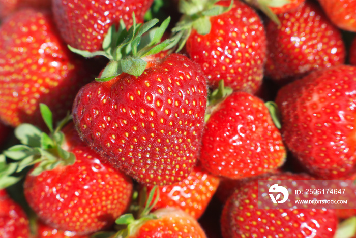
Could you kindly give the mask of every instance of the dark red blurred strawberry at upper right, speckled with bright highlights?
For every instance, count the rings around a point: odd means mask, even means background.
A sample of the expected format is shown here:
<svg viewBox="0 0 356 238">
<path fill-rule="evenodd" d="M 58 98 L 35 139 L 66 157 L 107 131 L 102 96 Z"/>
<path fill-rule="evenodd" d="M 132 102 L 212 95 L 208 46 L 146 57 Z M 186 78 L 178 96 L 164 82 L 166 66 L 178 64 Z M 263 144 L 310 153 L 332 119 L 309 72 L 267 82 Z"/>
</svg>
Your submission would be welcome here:
<svg viewBox="0 0 356 238">
<path fill-rule="evenodd" d="M 279 26 L 272 21 L 266 26 L 267 77 L 285 84 L 313 70 L 344 63 L 341 33 L 319 6 L 306 2 L 278 19 Z"/>
</svg>

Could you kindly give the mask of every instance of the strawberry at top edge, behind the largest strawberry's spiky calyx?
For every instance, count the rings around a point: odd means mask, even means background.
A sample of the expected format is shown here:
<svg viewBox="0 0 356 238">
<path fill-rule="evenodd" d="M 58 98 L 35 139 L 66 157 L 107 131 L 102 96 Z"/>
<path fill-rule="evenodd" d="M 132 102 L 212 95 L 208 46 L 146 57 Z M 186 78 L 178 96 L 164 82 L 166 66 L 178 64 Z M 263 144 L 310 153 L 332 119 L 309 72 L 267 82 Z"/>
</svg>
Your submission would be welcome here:
<svg viewBox="0 0 356 238">
<path fill-rule="evenodd" d="M 127 26 L 143 22 L 153 0 L 53 0 L 53 15 L 64 41 L 74 48 L 91 52 L 101 50 L 111 25 L 122 19 Z"/>
</svg>

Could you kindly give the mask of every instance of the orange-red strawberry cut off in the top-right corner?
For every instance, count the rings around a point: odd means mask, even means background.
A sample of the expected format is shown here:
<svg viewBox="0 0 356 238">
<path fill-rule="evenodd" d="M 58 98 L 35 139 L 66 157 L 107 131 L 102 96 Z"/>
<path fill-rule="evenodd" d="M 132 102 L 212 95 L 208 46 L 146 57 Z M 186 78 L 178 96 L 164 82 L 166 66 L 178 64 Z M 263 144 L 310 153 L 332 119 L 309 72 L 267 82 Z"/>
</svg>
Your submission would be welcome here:
<svg viewBox="0 0 356 238">
<path fill-rule="evenodd" d="M 339 28 L 356 32 L 355 0 L 318 0 L 329 19 Z"/>
</svg>

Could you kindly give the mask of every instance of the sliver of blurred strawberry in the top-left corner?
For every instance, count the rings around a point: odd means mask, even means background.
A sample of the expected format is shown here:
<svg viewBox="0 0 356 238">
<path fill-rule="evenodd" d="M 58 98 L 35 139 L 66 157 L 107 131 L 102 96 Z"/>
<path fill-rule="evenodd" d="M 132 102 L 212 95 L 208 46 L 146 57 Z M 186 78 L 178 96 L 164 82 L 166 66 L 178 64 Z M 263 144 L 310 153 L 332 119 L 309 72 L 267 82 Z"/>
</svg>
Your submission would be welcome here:
<svg viewBox="0 0 356 238">
<path fill-rule="evenodd" d="M 0 0 L 0 20 L 11 15 L 21 8 L 45 8 L 49 9 L 51 1 L 48 0 Z"/>
</svg>

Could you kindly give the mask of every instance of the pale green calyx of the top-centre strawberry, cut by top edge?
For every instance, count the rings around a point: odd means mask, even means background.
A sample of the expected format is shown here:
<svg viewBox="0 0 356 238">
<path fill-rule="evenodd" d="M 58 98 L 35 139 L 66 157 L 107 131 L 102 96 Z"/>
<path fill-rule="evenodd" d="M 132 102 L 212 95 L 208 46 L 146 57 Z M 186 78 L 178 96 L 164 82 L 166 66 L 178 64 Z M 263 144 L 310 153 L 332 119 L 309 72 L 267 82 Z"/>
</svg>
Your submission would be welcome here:
<svg viewBox="0 0 356 238">
<path fill-rule="evenodd" d="M 210 17 L 221 15 L 233 6 L 231 0 L 228 7 L 216 4 L 219 0 L 181 0 L 179 11 L 183 14 L 181 20 L 172 29 L 173 38 L 177 40 L 176 52 L 179 52 L 187 42 L 192 29 L 200 35 L 206 35 L 211 30 Z"/>
</svg>

